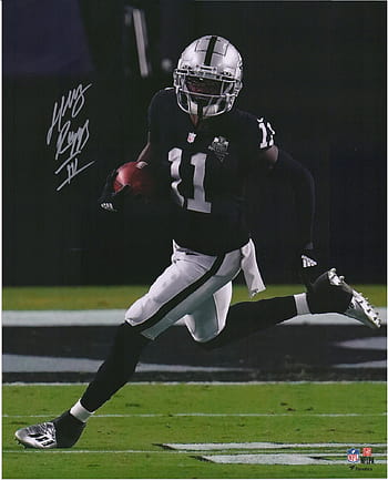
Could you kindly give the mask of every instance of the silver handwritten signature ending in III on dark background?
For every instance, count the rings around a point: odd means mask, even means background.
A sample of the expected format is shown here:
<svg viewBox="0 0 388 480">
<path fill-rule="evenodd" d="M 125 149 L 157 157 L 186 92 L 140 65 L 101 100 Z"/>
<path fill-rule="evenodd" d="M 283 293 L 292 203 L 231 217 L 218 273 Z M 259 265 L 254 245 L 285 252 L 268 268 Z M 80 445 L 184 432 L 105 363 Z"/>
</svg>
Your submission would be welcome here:
<svg viewBox="0 0 388 480">
<path fill-rule="evenodd" d="M 58 175 L 62 171 L 67 172 L 65 180 L 59 185 L 57 191 L 70 184 L 75 175 L 94 163 L 92 161 L 85 165 L 79 165 L 79 155 L 82 153 L 82 149 L 86 145 L 90 136 L 89 120 L 85 120 L 81 125 L 72 123 L 82 111 L 85 103 L 85 92 L 91 86 L 91 83 L 85 86 L 80 83 L 75 89 L 70 90 L 67 95 L 62 95 L 60 102 L 54 103 L 51 125 L 45 141 L 50 145 L 57 136 L 55 161 L 60 161 L 61 163 L 54 174 Z"/>
</svg>

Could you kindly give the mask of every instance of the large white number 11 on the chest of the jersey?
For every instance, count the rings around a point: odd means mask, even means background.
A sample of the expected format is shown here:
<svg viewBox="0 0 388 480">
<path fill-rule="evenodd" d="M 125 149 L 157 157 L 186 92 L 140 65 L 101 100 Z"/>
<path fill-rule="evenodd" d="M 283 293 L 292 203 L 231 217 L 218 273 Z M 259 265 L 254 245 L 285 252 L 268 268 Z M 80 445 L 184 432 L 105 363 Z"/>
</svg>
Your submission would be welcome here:
<svg viewBox="0 0 388 480">
<path fill-rule="evenodd" d="M 205 167 L 206 167 L 206 154 L 198 152 L 195 153 L 191 159 L 190 163 L 194 166 L 194 175 L 192 178 L 194 197 L 187 198 L 187 210 L 193 212 L 201 213 L 211 213 L 212 212 L 212 203 L 206 202 L 205 200 L 205 188 L 204 188 L 204 180 L 205 180 Z M 181 195 L 177 190 L 180 183 L 182 182 L 180 175 L 180 165 L 182 161 L 182 150 L 173 149 L 169 152 L 169 161 L 171 162 L 171 176 L 173 178 L 172 188 L 175 195 L 177 203 L 183 206 L 184 205 L 184 196 Z"/>
</svg>

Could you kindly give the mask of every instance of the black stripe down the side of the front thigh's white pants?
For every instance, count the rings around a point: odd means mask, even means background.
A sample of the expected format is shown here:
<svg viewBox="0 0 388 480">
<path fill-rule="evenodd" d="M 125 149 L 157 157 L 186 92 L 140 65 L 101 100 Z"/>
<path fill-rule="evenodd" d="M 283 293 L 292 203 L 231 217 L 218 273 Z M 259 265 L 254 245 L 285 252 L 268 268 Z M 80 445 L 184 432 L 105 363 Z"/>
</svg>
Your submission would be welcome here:
<svg viewBox="0 0 388 480">
<path fill-rule="evenodd" d="M 171 298 L 147 320 L 143 321 L 140 325 L 135 325 L 132 328 L 136 331 L 143 331 L 156 325 L 165 315 L 169 314 L 169 312 L 171 312 L 173 308 L 180 305 L 181 302 L 183 302 L 185 298 L 192 295 L 202 285 L 204 285 L 213 275 L 215 275 L 218 272 L 218 268 L 223 264 L 224 259 L 225 259 L 225 255 L 221 255 L 216 257 L 212 267 L 202 277 L 200 277 L 197 280 L 188 285 L 186 288 L 184 288 L 182 292 L 175 295 L 175 297 Z"/>
</svg>

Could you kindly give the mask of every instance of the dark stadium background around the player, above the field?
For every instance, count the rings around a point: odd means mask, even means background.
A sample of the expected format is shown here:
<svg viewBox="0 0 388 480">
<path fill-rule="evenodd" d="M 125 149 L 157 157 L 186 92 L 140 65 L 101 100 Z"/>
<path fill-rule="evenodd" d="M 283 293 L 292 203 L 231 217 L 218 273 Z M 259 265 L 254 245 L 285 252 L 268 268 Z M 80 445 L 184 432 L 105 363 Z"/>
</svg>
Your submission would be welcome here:
<svg viewBox="0 0 388 480">
<path fill-rule="evenodd" d="M 316 246 L 350 283 L 386 278 L 386 3 L 3 0 L 3 284 L 150 283 L 169 263 L 161 204 L 98 206 L 106 174 L 146 141 L 153 93 L 193 39 L 226 37 L 244 59 L 238 105 L 316 180 Z M 132 9 L 144 12 L 151 73 L 139 71 Z M 162 67 L 164 65 L 164 67 Z M 169 67 L 170 65 L 170 67 Z M 173 68 L 173 67 L 172 67 Z M 80 162 L 63 176 L 47 145 L 53 104 L 92 83 Z M 167 119 L 166 119 L 167 121 Z M 252 229 L 267 283 L 295 282 L 286 181 L 252 178 Z"/>
</svg>

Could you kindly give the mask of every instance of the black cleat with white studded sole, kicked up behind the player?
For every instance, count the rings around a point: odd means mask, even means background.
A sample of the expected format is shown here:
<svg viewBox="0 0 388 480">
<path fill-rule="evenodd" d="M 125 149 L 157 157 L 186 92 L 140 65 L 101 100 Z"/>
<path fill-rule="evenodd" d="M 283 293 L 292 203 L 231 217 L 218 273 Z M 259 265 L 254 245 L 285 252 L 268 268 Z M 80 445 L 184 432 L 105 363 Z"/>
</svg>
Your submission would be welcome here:
<svg viewBox="0 0 388 480">
<path fill-rule="evenodd" d="M 380 328 L 378 313 L 363 294 L 353 289 L 335 268 L 321 274 L 307 293 L 312 314 L 336 312 L 355 318 L 369 328 Z"/>
</svg>

